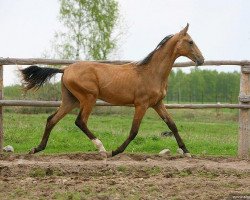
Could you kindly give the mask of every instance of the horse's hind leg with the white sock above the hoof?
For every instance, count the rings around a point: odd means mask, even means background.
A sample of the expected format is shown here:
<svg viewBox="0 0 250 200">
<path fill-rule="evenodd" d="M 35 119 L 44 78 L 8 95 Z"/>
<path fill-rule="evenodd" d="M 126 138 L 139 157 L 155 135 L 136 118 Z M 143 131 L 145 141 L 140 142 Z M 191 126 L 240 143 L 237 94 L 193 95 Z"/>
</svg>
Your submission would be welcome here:
<svg viewBox="0 0 250 200">
<path fill-rule="evenodd" d="M 88 129 L 87 122 L 89 115 L 92 111 L 93 106 L 95 105 L 96 98 L 92 95 L 89 95 L 85 98 L 82 98 L 80 103 L 80 113 L 75 121 L 76 126 L 78 126 L 87 137 L 95 144 L 99 152 L 106 154 L 106 149 L 104 148 L 102 142 Z"/>
</svg>

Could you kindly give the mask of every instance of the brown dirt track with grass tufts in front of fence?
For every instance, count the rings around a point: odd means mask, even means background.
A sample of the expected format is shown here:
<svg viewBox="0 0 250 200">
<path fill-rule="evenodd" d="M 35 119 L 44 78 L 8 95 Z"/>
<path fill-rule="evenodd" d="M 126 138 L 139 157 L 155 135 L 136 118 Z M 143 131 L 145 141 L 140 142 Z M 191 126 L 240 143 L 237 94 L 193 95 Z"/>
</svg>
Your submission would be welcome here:
<svg viewBox="0 0 250 200">
<path fill-rule="evenodd" d="M 232 194 L 250 199 L 247 160 L 137 154 L 106 162 L 96 154 L 0 158 L 0 199 L 228 199 Z"/>
</svg>

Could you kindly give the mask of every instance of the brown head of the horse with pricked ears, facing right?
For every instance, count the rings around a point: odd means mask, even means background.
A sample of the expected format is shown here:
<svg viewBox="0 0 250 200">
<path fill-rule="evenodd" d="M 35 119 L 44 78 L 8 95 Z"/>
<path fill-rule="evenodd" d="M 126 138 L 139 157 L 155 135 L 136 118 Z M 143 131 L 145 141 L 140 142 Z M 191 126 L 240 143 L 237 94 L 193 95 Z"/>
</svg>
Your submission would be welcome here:
<svg viewBox="0 0 250 200">
<path fill-rule="evenodd" d="M 178 35 L 178 42 L 176 44 L 176 54 L 178 56 L 186 56 L 196 63 L 197 66 L 204 63 L 204 57 L 201 51 L 196 46 L 190 35 L 187 33 L 188 26 L 181 30 Z"/>
</svg>

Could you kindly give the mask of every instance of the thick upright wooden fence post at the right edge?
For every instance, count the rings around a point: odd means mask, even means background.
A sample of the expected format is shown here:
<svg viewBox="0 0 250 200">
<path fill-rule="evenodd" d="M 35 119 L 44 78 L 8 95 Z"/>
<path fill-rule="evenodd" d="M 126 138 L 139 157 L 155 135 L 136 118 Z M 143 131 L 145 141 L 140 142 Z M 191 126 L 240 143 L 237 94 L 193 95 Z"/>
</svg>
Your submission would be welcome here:
<svg viewBox="0 0 250 200">
<path fill-rule="evenodd" d="M 250 65 L 241 66 L 239 103 L 250 104 Z M 250 109 L 240 109 L 238 156 L 250 158 Z"/>
</svg>

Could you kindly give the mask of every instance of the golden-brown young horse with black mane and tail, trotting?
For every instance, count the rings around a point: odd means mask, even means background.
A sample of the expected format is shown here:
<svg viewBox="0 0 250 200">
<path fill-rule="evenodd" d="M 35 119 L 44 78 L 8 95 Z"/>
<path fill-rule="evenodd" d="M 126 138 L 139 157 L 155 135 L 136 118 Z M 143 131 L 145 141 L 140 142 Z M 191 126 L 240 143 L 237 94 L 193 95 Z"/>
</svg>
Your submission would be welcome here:
<svg viewBox="0 0 250 200">
<path fill-rule="evenodd" d="M 163 99 L 167 90 L 167 79 L 175 60 L 180 56 L 191 59 L 196 65 L 204 63 L 201 51 L 187 33 L 189 24 L 180 32 L 166 36 L 157 47 L 139 62 L 122 65 L 80 61 L 64 68 L 30 66 L 21 69 L 25 90 L 39 89 L 53 75 L 62 73 L 62 103 L 48 117 L 40 144 L 29 153 L 45 149 L 51 130 L 67 113 L 79 108 L 75 124 L 94 143 L 99 153 L 106 158 L 122 153 L 136 137 L 143 116 L 153 108 L 169 127 L 179 148 L 190 157 L 178 129 L 167 112 Z M 126 140 L 108 153 L 102 142 L 87 126 L 89 115 L 97 99 L 116 105 L 134 105 L 134 118 Z"/>
</svg>

